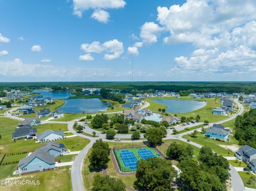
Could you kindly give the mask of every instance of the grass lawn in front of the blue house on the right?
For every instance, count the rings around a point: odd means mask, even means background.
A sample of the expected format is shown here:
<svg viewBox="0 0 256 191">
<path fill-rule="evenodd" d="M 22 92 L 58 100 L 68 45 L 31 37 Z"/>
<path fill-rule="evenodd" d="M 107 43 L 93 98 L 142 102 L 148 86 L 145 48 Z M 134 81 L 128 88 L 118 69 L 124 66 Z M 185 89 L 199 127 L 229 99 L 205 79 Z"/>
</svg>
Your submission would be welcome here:
<svg viewBox="0 0 256 191">
<path fill-rule="evenodd" d="M 212 151 L 222 156 L 234 156 L 234 152 L 226 148 L 223 148 L 219 145 L 233 145 L 233 144 L 237 145 L 238 144 L 238 141 L 231 138 L 231 136 L 229 137 L 231 139 L 230 142 L 220 142 L 219 140 L 206 138 L 203 136 L 203 134 L 197 134 L 196 138 L 190 137 L 188 135 L 185 135 L 182 137 L 185 139 L 189 139 L 191 142 L 198 143 L 199 145 L 208 146 L 212 149 Z"/>
</svg>

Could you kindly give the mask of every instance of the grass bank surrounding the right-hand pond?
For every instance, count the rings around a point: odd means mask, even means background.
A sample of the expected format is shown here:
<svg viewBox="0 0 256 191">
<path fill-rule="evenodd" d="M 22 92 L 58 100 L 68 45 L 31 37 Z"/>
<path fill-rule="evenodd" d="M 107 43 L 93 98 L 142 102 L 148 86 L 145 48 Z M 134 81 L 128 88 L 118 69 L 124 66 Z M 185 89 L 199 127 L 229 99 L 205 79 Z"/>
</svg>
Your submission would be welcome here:
<svg viewBox="0 0 256 191">
<path fill-rule="evenodd" d="M 159 104 L 157 102 L 152 101 L 151 99 L 155 99 L 155 97 L 147 98 L 145 99 L 146 102 L 150 103 L 150 106 L 148 109 L 151 111 L 158 112 L 158 109 L 166 109 L 167 106 L 163 104 Z M 175 99 L 174 97 L 157 97 L 157 99 Z M 223 115 L 214 115 L 212 114 L 212 109 L 215 107 L 219 107 L 221 105 L 220 99 L 217 98 L 201 98 L 201 99 L 194 99 L 191 97 L 181 97 L 178 100 L 195 100 L 195 101 L 205 101 L 207 104 L 202 107 L 199 110 L 187 112 L 187 113 L 170 113 L 170 114 L 177 114 L 178 117 L 185 116 L 185 117 L 196 117 L 196 115 L 200 115 L 201 121 L 207 120 L 209 122 L 215 122 L 215 121 L 220 121 L 222 119 L 227 118 L 226 116 Z"/>
</svg>

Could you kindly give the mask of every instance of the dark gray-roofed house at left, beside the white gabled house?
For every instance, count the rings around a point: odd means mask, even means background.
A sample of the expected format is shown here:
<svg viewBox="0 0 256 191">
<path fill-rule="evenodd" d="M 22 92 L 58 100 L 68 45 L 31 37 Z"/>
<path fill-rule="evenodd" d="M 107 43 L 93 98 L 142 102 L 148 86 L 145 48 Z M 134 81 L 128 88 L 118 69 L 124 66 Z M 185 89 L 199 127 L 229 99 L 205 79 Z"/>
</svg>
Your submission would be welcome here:
<svg viewBox="0 0 256 191">
<path fill-rule="evenodd" d="M 37 130 L 36 128 L 31 128 L 30 125 L 17 127 L 15 131 L 12 133 L 13 139 L 19 139 L 19 138 L 28 138 L 30 136 L 36 136 Z"/>
</svg>

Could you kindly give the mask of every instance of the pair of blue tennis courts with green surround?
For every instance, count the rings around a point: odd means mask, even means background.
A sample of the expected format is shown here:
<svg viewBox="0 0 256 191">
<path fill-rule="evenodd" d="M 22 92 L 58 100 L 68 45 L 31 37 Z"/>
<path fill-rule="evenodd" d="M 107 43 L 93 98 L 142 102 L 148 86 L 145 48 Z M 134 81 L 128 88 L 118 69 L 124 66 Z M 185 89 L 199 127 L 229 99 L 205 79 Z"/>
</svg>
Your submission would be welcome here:
<svg viewBox="0 0 256 191">
<path fill-rule="evenodd" d="M 148 157 L 161 157 L 154 148 L 124 148 L 114 150 L 116 161 L 122 172 L 133 172 L 137 170 L 137 161 L 146 160 Z"/>
</svg>

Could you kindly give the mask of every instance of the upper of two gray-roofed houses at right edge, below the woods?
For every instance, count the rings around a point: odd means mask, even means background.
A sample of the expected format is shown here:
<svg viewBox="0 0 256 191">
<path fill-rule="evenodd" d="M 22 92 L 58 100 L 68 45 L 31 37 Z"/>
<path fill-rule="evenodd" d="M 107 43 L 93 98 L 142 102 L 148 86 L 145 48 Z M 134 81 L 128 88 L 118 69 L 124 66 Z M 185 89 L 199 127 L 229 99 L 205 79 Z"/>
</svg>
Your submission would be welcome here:
<svg viewBox="0 0 256 191">
<path fill-rule="evenodd" d="M 236 151 L 236 157 L 242 161 L 250 162 L 256 159 L 256 150 L 249 145 L 244 145 Z"/>
</svg>

